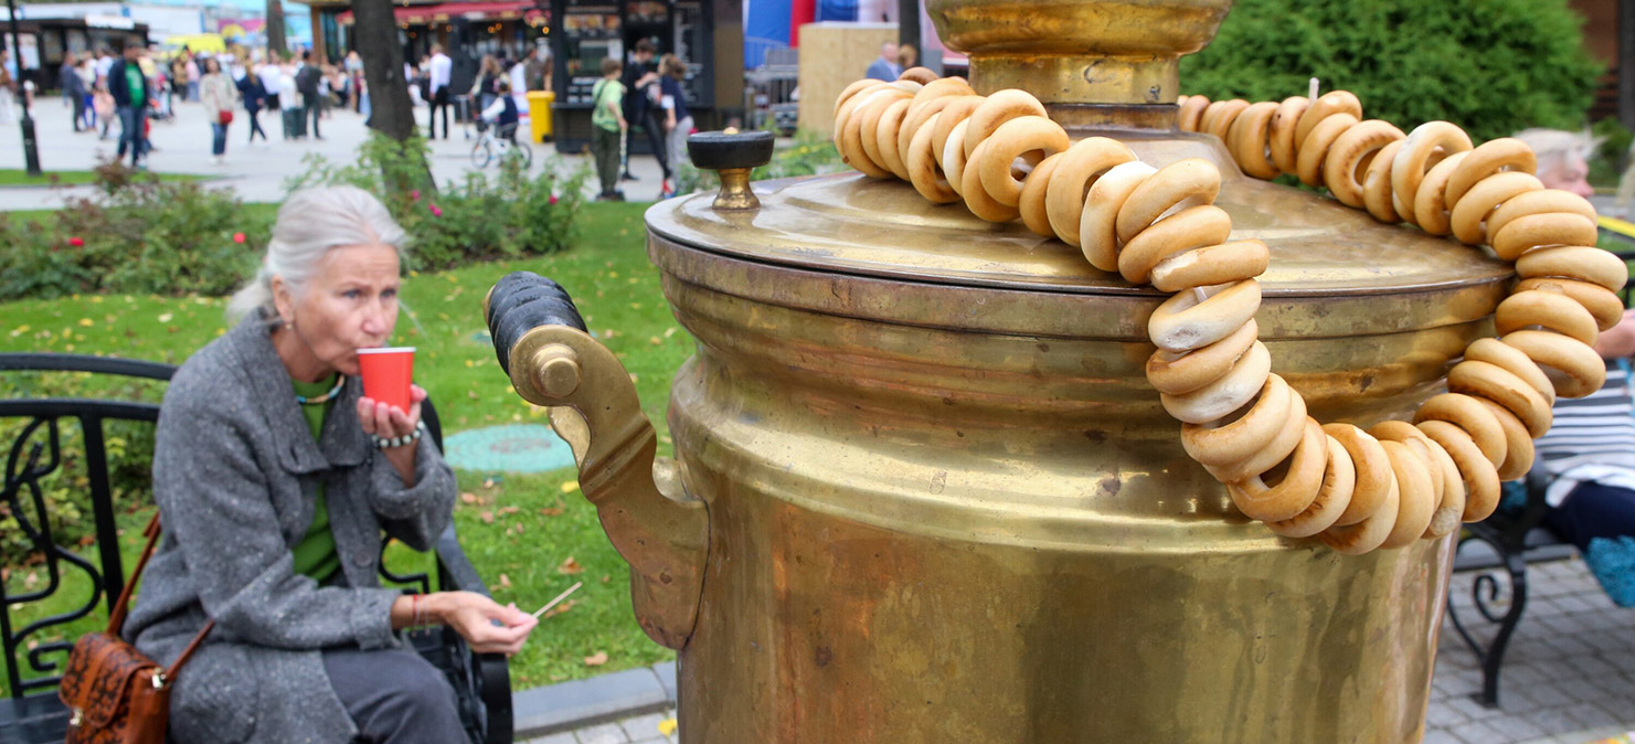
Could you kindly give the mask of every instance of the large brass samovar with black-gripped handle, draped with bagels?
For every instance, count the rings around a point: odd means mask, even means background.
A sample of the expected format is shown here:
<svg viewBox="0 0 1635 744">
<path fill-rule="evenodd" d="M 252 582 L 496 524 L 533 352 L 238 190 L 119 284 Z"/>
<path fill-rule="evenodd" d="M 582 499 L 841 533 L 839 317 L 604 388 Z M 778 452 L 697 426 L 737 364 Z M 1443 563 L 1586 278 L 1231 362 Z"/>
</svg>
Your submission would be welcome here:
<svg viewBox="0 0 1635 744">
<path fill-rule="evenodd" d="M 1176 62 L 1228 0 L 927 5 L 979 93 L 1221 170 L 1233 239 L 1272 249 L 1261 338 L 1318 419 L 1404 415 L 1491 335 L 1504 263 L 1246 178 L 1176 129 Z M 633 566 L 638 620 L 679 651 L 683 742 L 1419 741 L 1452 538 L 1352 558 L 1274 536 L 1144 379 L 1159 293 L 906 183 L 750 188 L 770 149 L 700 137 L 723 193 L 647 211 L 698 342 L 675 461 L 561 288 L 513 275 L 487 304 Z"/>
</svg>

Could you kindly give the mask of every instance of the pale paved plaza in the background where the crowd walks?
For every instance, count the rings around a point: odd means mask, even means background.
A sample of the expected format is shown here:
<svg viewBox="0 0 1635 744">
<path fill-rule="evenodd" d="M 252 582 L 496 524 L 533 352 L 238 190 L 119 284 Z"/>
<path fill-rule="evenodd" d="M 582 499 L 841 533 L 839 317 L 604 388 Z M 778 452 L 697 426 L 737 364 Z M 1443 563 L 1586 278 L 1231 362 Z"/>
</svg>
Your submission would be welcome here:
<svg viewBox="0 0 1635 744">
<path fill-rule="evenodd" d="M 52 170 L 90 170 L 98 155 L 113 155 L 118 150 L 119 124 L 110 129 L 110 139 L 98 141 L 96 134 L 75 134 L 72 114 L 59 96 L 44 96 L 34 103 L 34 131 L 39 142 L 39 164 L 47 173 Z M 209 182 L 213 186 L 232 188 L 244 201 L 283 201 L 284 180 L 307 170 L 302 159 L 307 154 L 319 154 L 334 164 L 350 164 L 356 159 L 358 146 L 366 139 L 368 128 L 363 118 L 352 111 L 334 111 L 320 123 L 324 141 L 283 141 L 278 113 L 263 111 L 262 129 L 271 137 L 263 146 L 257 139 L 255 146 L 245 146 L 250 124 L 244 110 L 234 111 L 234 121 L 227 131 L 226 165 L 211 164 L 211 128 L 209 118 L 199 103 L 177 103 L 177 116 L 170 121 L 152 123 L 152 141 L 157 150 L 149 159 L 149 167 L 159 173 L 199 173 L 217 175 Z M 425 123 L 427 110 L 415 110 L 417 121 Z M 471 146 L 476 142 L 476 129 L 469 129 L 473 139 L 463 137 L 463 128 L 455 126 L 451 139 L 432 142 L 432 173 L 438 183 L 463 180 L 471 167 Z M 571 172 L 580 165 L 589 165 L 589 155 L 558 155 L 554 144 L 536 144 L 533 152 L 533 168 L 540 172 L 553 164 L 559 172 Z M 23 134 L 16 123 L 0 124 L 0 168 L 23 168 Z M 631 201 L 652 201 L 659 196 L 659 164 L 651 155 L 631 157 L 631 170 L 636 182 L 621 185 Z M 487 167 L 489 175 L 499 173 L 499 165 Z M 595 177 L 585 185 L 589 195 L 595 195 Z M 90 188 L 43 188 L 43 186 L 0 186 L 0 211 L 11 209 L 56 209 L 62 206 L 67 195 L 87 195 Z"/>
</svg>

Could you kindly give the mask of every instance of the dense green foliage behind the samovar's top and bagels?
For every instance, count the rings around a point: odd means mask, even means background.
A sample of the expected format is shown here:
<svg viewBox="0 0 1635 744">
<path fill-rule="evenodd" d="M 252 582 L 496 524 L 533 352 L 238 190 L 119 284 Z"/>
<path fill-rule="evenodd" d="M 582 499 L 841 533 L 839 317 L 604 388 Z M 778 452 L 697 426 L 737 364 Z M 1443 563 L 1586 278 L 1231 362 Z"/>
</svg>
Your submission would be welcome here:
<svg viewBox="0 0 1635 744">
<path fill-rule="evenodd" d="M 1180 87 L 1215 100 L 1346 88 L 1404 131 L 1447 119 L 1478 141 L 1584 126 L 1596 77 L 1566 0 L 1238 0 L 1182 59 Z"/>
</svg>

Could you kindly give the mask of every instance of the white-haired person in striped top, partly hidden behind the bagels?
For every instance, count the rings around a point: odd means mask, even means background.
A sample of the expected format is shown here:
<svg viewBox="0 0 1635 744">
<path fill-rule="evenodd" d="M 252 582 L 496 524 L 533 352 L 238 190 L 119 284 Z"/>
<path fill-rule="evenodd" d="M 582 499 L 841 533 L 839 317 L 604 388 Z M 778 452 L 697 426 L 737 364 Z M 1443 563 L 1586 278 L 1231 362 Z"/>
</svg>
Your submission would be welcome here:
<svg viewBox="0 0 1635 744">
<path fill-rule="evenodd" d="M 1539 154 L 1539 180 L 1588 198 L 1584 160 L 1594 141 L 1583 134 L 1527 129 L 1519 139 Z M 1558 397 L 1550 432 L 1539 440 L 1535 468 L 1547 476 L 1545 523 L 1578 546 L 1591 572 L 1620 607 L 1635 607 L 1635 312 L 1596 337 L 1607 379 L 1584 397 Z"/>
</svg>

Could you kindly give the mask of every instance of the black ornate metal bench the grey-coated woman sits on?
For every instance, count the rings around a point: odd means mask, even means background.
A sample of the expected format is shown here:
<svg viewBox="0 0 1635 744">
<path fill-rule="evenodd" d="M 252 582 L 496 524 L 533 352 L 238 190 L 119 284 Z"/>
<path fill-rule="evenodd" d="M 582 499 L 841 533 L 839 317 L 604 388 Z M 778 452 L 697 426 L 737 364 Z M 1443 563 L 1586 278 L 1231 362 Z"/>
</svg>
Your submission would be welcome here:
<svg viewBox="0 0 1635 744">
<path fill-rule="evenodd" d="M 92 373 L 105 376 L 168 381 L 175 366 L 154 361 L 119 360 L 103 356 L 59 353 L 0 353 L 0 371 L 43 373 Z M 443 432 L 432 401 L 423 406 L 423 420 L 432 440 L 443 446 Z M 0 700 L 0 741 L 8 744 L 60 742 L 65 736 L 69 715 L 57 700 L 56 687 L 62 664 L 67 661 L 74 638 L 59 641 L 41 639 L 51 628 L 85 618 L 93 612 L 106 616 L 108 605 L 124 587 L 124 566 L 119 558 L 118 527 L 110 482 L 108 438 L 105 424 L 110 420 L 149 422 L 159 420 L 159 406 L 150 402 L 101 401 L 101 399 L 0 399 L 0 420 L 23 420 L 23 428 L 5 450 L 5 481 L 0 484 L 0 505 L 16 517 L 31 549 L 44 556 L 41 569 L 47 576 L 43 589 L 8 594 L 0 582 L 0 648 L 5 649 L 7 685 L 10 698 Z M 83 463 L 92 495 L 95 541 L 88 546 L 60 545 L 54 535 L 41 481 L 64 464 L 62 422 L 77 420 L 83 441 Z M 383 540 L 386 549 L 389 540 Z M 82 553 L 95 551 L 95 561 Z M 437 541 L 437 587 L 441 590 L 468 590 L 489 594 L 466 559 L 455 528 Z M 62 615 L 41 618 L 21 628 L 13 620 L 13 608 L 39 602 L 64 587 L 64 577 L 82 572 L 90 579 L 90 598 L 78 608 Z M 386 582 L 414 585 L 430 592 L 427 574 L 397 576 L 381 566 Z M 103 605 L 98 610 L 98 605 Z M 459 700 L 459 715 L 476 744 L 507 744 L 512 741 L 510 669 L 504 654 L 473 654 L 464 639 L 450 628 L 422 628 L 409 633 L 414 648 L 441 669 Z M 33 644 L 33 646 L 29 646 Z M 21 664 L 28 664 L 33 679 L 23 679 Z"/>
</svg>

